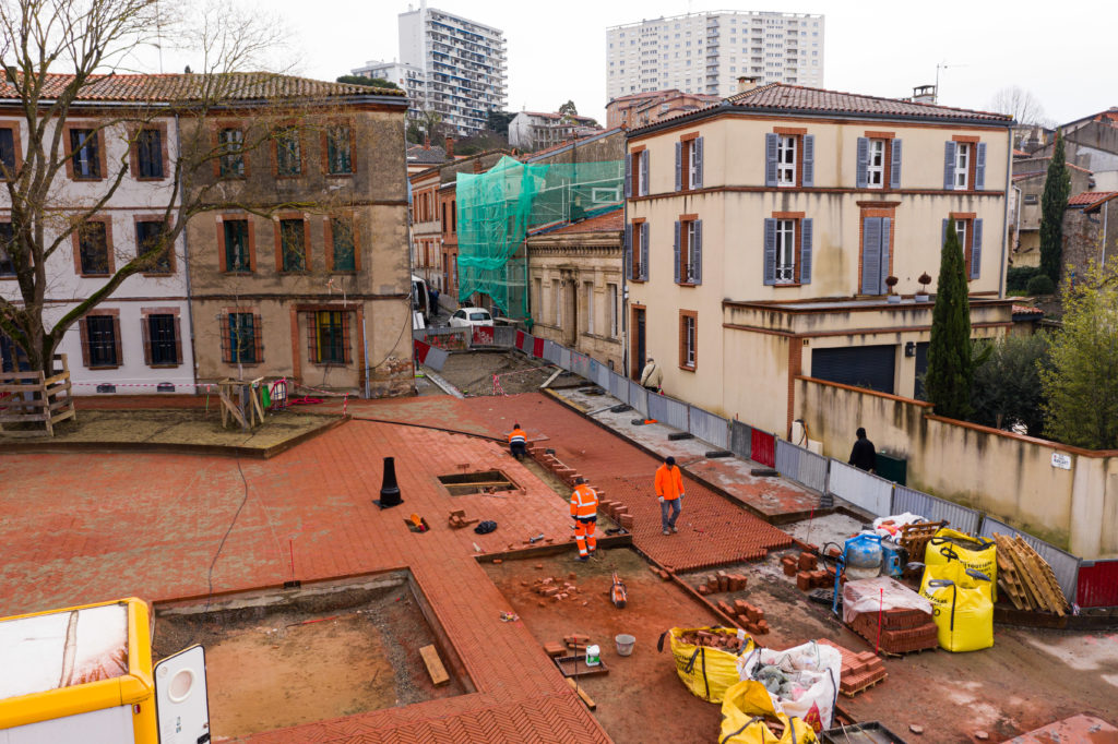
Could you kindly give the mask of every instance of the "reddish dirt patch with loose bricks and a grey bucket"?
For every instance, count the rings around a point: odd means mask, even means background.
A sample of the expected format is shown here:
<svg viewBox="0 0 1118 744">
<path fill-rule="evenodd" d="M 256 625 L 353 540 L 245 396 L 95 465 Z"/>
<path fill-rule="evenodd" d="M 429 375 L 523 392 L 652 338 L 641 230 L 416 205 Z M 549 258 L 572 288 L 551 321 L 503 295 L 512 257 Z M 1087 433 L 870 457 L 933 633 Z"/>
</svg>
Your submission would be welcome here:
<svg viewBox="0 0 1118 744">
<path fill-rule="evenodd" d="M 589 636 L 591 643 L 600 646 L 609 674 L 585 677 L 580 683 L 598 704 L 595 715 L 614 741 L 713 741 L 719 706 L 688 691 L 675 674 L 666 645 L 657 652 L 656 640 L 675 626 L 714 624 L 714 616 L 675 584 L 657 578 L 632 550 L 603 553 L 601 559 L 585 564 L 572 561 L 568 553 L 485 564 L 485 569 L 541 646 L 571 633 Z M 537 563 L 543 567 L 536 569 Z M 615 608 L 607 594 L 614 570 L 628 590 L 624 610 Z M 577 576 L 574 580 L 567 579 L 571 572 Z M 540 576 L 570 581 L 578 586 L 577 598 L 548 601 L 541 608 L 542 598 L 521 583 L 531 584 Z M 617 654 L 614 637 L 618 633 L 636 637 L 632 656 Z"/>
</svg>

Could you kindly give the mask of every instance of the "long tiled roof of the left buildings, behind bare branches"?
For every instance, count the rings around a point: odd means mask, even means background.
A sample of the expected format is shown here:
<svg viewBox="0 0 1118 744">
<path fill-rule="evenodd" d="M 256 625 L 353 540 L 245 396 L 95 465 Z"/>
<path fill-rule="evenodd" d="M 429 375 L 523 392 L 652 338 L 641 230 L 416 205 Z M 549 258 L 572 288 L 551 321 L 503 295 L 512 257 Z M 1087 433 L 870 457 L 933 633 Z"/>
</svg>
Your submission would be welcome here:
<svg viewBox="0 0 1118 744">
<path fill-rule="evenodd" d="M 60 95 L 73 75 L 47 75 L 44 96 Z M 402 90 L 373 88 L 348 83 L 312 80 L 272 73 L 228 73 L 224 75 L 97 75 L 82 86 L 78 101 L 106 102 L 183 102 L 217 98 L 221 101 L 260 101 L 269 98 L 332 98 L 345 96 L 398 96 Z M 0 99 L 16 98 L 16 88 L 0 82 Z"/>
</svg>

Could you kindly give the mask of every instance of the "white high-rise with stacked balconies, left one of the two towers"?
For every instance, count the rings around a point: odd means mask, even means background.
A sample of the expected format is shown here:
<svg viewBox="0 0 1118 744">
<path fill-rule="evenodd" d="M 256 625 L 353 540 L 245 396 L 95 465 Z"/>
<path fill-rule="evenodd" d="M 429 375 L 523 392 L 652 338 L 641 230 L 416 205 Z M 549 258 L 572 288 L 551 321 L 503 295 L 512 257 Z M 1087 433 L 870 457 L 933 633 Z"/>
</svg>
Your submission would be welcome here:
<svg viewBox="0 0 1118 744">
<path fill-rule="evenodd" d="M 354 75 L 380 77 L 401 85 L 411 99 L 411 115 L 427 108 L 459 135 L 484 128 L 491 111 L 508 104 L 504 32 L 492 26 L 428 8 L 399 16 L 399 63 L 369 63 Z"/>
</svg>

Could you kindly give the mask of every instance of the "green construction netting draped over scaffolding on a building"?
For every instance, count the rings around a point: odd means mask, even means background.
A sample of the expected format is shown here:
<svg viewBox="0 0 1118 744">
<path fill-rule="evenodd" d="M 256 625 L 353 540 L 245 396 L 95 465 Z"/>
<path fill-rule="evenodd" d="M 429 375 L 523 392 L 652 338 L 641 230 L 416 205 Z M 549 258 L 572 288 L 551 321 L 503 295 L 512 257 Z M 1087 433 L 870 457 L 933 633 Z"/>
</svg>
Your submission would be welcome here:
<svg viewBox="0 0 1118 744">
<path fill-rule="evenodd" d="M 458 173 L 458 302 L 480 292 L 506 316 L 527 318 L 524 238 L 619 206 L 622 163 L 533 164 L 505 156 L 485 173 Z"/>
</svg>

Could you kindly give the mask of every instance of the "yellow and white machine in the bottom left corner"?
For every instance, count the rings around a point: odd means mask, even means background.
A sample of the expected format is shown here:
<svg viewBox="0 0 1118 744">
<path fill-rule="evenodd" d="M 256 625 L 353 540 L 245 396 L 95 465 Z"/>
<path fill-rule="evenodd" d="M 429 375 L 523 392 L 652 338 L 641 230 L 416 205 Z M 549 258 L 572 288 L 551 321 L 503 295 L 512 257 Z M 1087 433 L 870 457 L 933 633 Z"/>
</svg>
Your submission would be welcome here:
<svg viewBox="0 0 1118 744">
<path fill-rule="evenodd" d="M 135 598 L 0 619 L 0 742 L 209 742 L 201 646 L 153 667 L 150 633 Z"/>
</svg>

